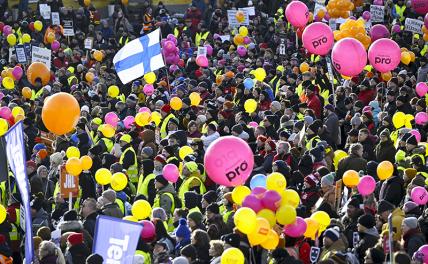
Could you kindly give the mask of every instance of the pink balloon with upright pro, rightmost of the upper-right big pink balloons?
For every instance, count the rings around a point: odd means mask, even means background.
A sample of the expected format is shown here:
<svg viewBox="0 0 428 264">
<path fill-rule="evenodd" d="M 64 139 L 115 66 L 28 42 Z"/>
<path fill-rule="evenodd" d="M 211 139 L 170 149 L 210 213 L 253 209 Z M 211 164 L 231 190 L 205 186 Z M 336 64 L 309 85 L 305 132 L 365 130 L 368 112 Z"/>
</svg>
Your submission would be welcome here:
<svg viewBox="0 0 428 264">
<path fill-rule="evenodd" d="M 369 48 L 370 64 L 382 73 L 397 68 L 400 60 L 400 46 L 391 39 L 378 39 Z"/>
</svg>

